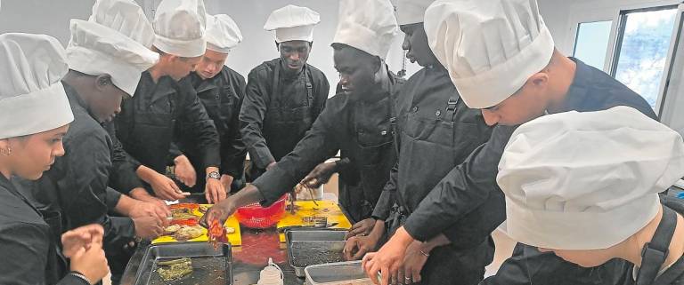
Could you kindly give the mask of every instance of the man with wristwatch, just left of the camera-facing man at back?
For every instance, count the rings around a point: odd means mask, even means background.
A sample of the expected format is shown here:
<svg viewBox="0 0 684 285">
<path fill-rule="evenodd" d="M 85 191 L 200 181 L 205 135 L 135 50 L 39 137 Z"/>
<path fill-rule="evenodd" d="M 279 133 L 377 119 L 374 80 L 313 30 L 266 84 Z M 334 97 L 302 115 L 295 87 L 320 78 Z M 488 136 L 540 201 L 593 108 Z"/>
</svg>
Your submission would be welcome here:
<svg viewBox="0 0 684 285">
<path fill-rule="evenodd" d="M 235 21 L 228 15 L 207 15 L 207 51 L 199 60 L 190 80 L 199 101 L 218 131 L 221 141 L 221 184 L 225 192 L 206 193 L 207 201 L 218 202 L 225 199 L 226 192 L 239 190 L 243 185 L 244 162 L 247 154 L 240 137 L 240 106 L 245 98 L 245 78 L 235 70 L 225 66 L 225 59 L 232 48 L 242 41 L 242 35 Z M 201 152 L 189 139 L 175 138 L 180 151 L 188 156 L 197 168 L 201 162 Z M 192 192 L 205 188 L 205 179 L 198 177 Z"/>
</svg>

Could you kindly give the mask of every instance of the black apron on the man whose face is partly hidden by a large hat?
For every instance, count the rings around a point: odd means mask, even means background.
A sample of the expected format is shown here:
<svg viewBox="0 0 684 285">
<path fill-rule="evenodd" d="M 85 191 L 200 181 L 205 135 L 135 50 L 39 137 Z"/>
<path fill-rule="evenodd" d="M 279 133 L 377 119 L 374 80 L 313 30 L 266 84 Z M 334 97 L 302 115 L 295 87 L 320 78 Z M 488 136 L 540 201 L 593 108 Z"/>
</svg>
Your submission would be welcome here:
<svg viewBox="0 0 684 285">
<path fill-rule="evenodd" d="M 443 104 L 444 115 L 441 120 L 416 118 L 416 109 L 411 110 L 405 118 L 403 125 L 405 130 L 397 133 L 403 136 L 401 139 L 400 166 L 404 170 L 419 171 L 428 169 L 451 170 L 457 160 L 462 160 L 481 141 L 472 139 L 455 139 L 455 136 L 478 136 L 477 127 L 474 124 L 454 122 L 459 105 L 459 95 L 454 92 L 452 97 Z M 441 113 L 441 111 L 439 111 Z M 487 132 L 488 134 L 488 132 Z M 458 144 L 458 145 L 457 145 Z M 398 144 L 397 144 L 398 145 Z M 401 159 L 403 153 L 408 154 L 432 154 L 429 162 L 420 159 L 419 156 L 411 156 L 411 159 Z M 407 154 L 407 155 L 408 155 Z M 460 156 L 463 156 L 460 158 Z M 426 164 L 427 163 L 427 164 Z M 440 167 L 442 166 L 442 167 Z M 432 175 L 427 173 L 425 175 Z M 400 176 L 411 179 L 411 173 L 401 173 Z M 412 175 L 422 175 L 413 173 Z M 419 178 L 424 180 L 424 178 Z M 404 201 L 401 193 L 395 193 L 397 204 L 387 218 L 386 226 L 388 236 L 395 234 L 396 230 L 403 226 L 406 218 L 411 214 L 411 203 Z M 459 248 L 456 248 L 459 246 Z M 433 249 L 428 261 L 420 272 L 422 281 L 420 284 L 462 284 L 475 285 L 482 281 L 485 275 L 485 265 L 493 260 L 493 241 L 491 238 L 479 239 L 478 242 L 462 247 L 460 244 L 447 245 Z"/>
</svg>

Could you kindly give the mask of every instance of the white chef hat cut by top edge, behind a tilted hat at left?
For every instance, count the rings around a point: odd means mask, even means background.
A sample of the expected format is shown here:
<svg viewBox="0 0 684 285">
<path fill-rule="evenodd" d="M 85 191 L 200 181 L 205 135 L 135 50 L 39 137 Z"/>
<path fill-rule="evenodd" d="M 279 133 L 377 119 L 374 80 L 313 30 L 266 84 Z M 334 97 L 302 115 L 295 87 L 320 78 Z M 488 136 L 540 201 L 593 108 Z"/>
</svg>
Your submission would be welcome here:
<svg viewBox="0 0 684 285">
<path fill-rule="evenodd" d="M 154 42 L 152 24 L 133 0 L 97 0 L 88 20 L 118 31 L 148 48 Z"/>
</svg>

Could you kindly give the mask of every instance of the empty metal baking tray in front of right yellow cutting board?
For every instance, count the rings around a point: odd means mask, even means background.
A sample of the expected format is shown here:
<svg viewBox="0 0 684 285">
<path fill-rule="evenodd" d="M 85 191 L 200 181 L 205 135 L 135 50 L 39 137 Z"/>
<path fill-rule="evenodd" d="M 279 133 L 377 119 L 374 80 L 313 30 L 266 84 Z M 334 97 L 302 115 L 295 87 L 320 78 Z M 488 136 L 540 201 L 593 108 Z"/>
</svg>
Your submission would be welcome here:
<svg viewBox="0 0 684 285">
<path fill-rule="evenodd" d="M 289 265 L 297 277 L 305 277 L 305 267 L 345 261 L 346 231 L 298 228 L 285 232 Z"/>
</svg>

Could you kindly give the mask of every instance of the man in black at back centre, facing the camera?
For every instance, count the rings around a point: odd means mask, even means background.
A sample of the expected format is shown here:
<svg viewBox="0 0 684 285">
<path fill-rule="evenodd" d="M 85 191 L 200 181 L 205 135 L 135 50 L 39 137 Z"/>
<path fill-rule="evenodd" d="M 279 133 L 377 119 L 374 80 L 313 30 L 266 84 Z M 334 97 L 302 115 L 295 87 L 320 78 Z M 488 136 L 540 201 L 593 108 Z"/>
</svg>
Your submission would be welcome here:
<svg viewBox="0 0 684 285">
<path fill-rule="evenodd" d="M 304 138 L 328 99 L 330 83 L 306 63 L 320 17 L 305 7 L 275 10 L 264 28 L 275 30 L 281 57 L 254 67 L 247 76 L 240 132 L 249 153 L 248 181 L 273 168 Z"/>
</svg>

